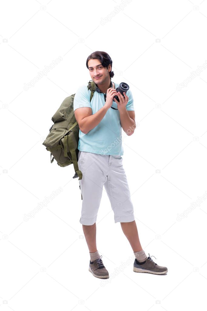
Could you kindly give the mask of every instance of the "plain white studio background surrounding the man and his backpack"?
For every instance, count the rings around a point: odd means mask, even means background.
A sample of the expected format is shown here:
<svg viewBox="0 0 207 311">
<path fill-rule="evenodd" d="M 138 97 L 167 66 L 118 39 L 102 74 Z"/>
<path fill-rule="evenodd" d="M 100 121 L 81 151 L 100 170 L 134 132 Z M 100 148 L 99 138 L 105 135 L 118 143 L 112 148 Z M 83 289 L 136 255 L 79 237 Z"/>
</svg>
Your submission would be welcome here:
<svg viewBox="0 0 207 311">
<path fill-rule="evenodd" d="M 1 2 L 1 310 L 202 308 L 206 27 L 206 0 Z M 51 164 L 42 145 L 64 98 L 90 80 L 86 59 L 96 50 L 110 55 L 112 80 L 134 97 L 137 128 L 123 138 L 123 165 L 142 247 L 166 275 L 133 272 L 103 187 L 97 249 L 110 278 L 92 276 L 73 165 Z"/>
</svg>

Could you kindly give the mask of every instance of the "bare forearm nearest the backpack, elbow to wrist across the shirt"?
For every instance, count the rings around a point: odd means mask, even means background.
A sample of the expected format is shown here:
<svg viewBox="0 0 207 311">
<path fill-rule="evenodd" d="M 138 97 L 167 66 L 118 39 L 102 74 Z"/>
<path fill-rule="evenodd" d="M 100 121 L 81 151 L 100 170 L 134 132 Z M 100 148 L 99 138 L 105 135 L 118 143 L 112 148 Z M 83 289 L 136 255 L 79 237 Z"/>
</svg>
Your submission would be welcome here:
<svg viewBox="0 0 207 311">
<path fill-rule="evenodd" d="M 79 124 L 81 132 L 87 134 L 90 130 L 95 128 L 101 122 L 101 120 L 107 113 L 107 110 L 108 110 L 107 106 L 104 105 L 95 114 L 91 114 L 90 116 L 83 118 Z"/>
</svg>

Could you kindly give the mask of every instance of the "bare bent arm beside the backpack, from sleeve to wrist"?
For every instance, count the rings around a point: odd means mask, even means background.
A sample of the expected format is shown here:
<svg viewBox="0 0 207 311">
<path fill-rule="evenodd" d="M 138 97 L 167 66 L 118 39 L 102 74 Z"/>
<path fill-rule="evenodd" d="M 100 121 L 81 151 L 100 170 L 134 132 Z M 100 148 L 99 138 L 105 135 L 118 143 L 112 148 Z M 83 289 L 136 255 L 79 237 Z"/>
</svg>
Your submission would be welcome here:
<svg viewBox="0 0 207 311">
<path fill-rule="evenodd" d="M 90 130 L 95 128 L 95 126 L 101 122 L 107 110 L 108 106 L 104 105 L 99 111 L 92 114 L 92 109 L 89 107 L 77 108 L 74 114 L 81 132 L 87 134 Z"/>
</svg>

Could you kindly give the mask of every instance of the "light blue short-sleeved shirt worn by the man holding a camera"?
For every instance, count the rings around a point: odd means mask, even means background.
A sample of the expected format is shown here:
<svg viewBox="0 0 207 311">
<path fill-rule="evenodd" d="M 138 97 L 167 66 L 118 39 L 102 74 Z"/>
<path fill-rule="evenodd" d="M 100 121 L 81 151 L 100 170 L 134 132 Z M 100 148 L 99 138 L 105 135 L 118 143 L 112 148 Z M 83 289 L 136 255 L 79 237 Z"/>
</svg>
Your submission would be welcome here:
<svg viewBox="0 0 207 311">
<path fill-rule="evenodd" d="M 119 84 L 115 82 L 114 84 L 116 89 Z M 88 90 L 87 85 L 81 85 L 77 89 L 73 101 L 73 110 L 75 111 L 81 107 L 90 107 L 92 109 L 92 114 L 95 114 L 105 104 L 104 95 L 103 93 L 95 91 L 90 102 L 90 90 Z M 130 89 L 126 92 L 126 95 L 129 97 L 126 110 L 134 111 L 133 96 Z M 112 107 L 117 108 L 117 103 L 115 101 L 113 101 Z M 101 155 L 122 156 L 124 150 L 122 146 L 121 130 L 119 110 L 109 108 L 103 119 L 95 128 L 90 130 L 87 134 L 84 134 L 81 130 L 79 131 L 78 150 Z"/>
</svg>

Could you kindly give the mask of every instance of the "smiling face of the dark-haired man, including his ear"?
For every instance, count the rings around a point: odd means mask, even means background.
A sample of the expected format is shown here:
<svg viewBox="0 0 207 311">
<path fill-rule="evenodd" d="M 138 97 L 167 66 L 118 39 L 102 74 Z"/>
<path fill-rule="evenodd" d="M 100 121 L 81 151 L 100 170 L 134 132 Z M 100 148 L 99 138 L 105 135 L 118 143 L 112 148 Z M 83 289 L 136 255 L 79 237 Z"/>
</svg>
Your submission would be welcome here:
<svg viewBox="0 0 207 311">
<path fill-rule="evenodd" d="M 107 69 L 107 67 L 102 66 L 101 61 L 97 58 L 90 59 L 88 61 L 88 70 L 89 70 L 91 79 L 96 84 L 106 83 L 108 79 L 110 79 L 109 72 L 111 71 L 111 65 L 109 64 L 108 69 Z M 99 78 L 96 79 L 96 77 L 99 77 Z"/>
</svg>

